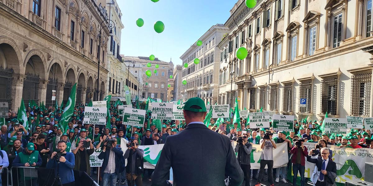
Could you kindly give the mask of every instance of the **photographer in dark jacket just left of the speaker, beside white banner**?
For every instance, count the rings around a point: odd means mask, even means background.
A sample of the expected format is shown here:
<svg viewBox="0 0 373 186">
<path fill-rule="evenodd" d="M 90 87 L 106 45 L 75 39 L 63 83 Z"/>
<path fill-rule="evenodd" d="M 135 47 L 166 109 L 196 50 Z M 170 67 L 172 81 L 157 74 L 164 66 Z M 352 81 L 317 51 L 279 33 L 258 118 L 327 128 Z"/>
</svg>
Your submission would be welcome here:
<svg viewBox="0 0 373 186">
<path fill-rule="evenodd" d="M 142 186 L 141 174 L 144 170 L 142 157 L 144 157 L 144 150 L 138 148 L 138 140 L 134 139 L 129 142 L 128 149 L 123 155 L 123 158 L 127 159 L 126 178 L 128 186 L 134 186 L 135 182 L 137 186 Z"/>
</svg>

